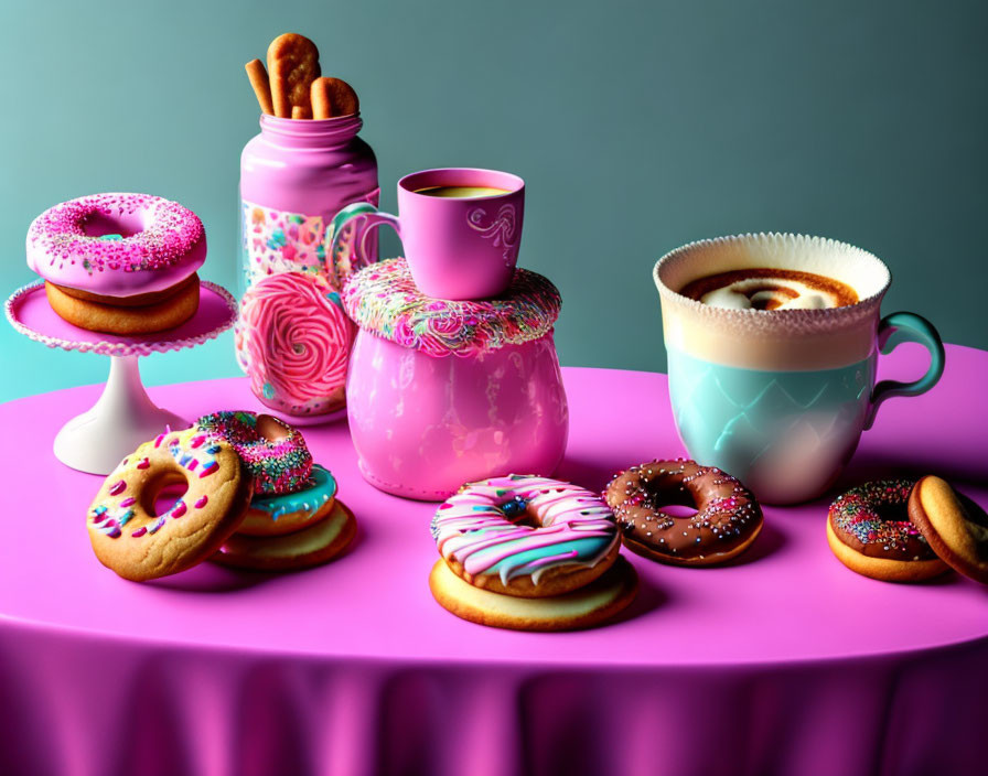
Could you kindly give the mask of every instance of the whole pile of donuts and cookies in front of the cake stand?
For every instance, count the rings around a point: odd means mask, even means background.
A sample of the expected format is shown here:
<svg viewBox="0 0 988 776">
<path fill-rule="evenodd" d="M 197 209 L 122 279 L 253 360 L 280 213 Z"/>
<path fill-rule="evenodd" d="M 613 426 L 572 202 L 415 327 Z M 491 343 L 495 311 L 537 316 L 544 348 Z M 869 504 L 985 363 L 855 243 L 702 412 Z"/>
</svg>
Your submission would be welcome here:
<svg viewBox="0 0 988 776">
<path fill-rule="evenodd" d="M 165 488 L 185 486 L 168 509 Z M 216 412 L 144 442 L 106 478 L 86 526 L 99 561 L 146 581 L 212 560 L 259 571 L 308 569 L 356 534 L 336 481 L 302 434 L 267 414 Z M 160 511 L 160 514 L 159 514 Z"/>
</svg>

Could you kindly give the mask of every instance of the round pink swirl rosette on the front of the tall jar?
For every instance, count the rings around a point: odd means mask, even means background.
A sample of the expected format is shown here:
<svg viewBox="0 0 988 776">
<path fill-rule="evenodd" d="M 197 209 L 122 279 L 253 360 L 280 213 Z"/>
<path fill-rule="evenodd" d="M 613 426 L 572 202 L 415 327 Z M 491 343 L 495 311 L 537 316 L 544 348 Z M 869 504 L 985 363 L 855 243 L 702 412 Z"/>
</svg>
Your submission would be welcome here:
<svg viewBox="0 0 988 776">
<path fill-rule="evenodd" d="M 250 389 L 271 409 L 323 414 L 343 406 L 354 328 L 321 277 L 282 272 L 240 300 L 238 349 Z"/>
</svg>

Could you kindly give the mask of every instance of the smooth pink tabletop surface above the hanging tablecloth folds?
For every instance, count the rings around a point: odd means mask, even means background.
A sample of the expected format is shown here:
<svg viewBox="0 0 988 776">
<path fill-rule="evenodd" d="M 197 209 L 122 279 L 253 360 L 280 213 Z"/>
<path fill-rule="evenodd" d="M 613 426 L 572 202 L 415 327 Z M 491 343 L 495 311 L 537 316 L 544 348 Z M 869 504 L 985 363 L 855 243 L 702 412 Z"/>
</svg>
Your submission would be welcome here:
<svg viewBox="0 0 988 776">
<path fill-rule="evenodd" d="M 889 360 L 905 376 L 914 349 Z M 610 474 L 684 454 L 664 375 L 566 369 L 572 432 L 561 478 L 601 488 Z M 895 399 L 866 433 L 844 477 L 937 473 L 988 506 L 988 407 L 974 390 L 988 354 L 951 347 L 928 395 Z M 126 639 L 326 657 L 583 664 L 707 665 L 814 660 L 923 649 L 988 635 L 988 589 L 951 573 L 925 585 L 883 584 L 844 568 L 824 535 L 828 499 L 765 508 L 743 562 L 686 570 L 629 553 L 642 589 L 609 627 L 544 635 L 495 630 L 440 608 L 427 585 L 437 558 L 434 506 L 402 500 L 359 476 L 345 422 L 305 430 L 340 483 L 361 532 L 352 551 L 304 573 L 268 576 L 202 565 L 151 584 L 118 579 L 93 557 L 84 513 L 100 478 L 58 464 L 51 440 L 97 388 L 0 407 L 10 485 L 0 524 L 0 623 L 79 629 Z M 185 417 L 261 410 L 244 379 L 150 389 Z M 756 627 L 753 625 L 758 624 Z"/>
</svg>

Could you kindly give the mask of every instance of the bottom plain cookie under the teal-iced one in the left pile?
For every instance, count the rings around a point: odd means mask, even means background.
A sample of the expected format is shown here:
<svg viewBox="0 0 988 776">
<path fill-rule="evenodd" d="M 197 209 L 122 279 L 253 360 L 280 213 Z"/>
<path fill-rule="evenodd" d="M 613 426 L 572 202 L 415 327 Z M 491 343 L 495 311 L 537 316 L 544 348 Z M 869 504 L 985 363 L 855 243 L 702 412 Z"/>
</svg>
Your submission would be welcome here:
<svg viewBox="0 0 988 776">
<path fill-rule="evenodd" d="M 273 537 L 235 534 L 210 560 L 250 571 L 299 571 L 333 560 L 356 531 L 353 513 L 337 498 L 330 515 L 308 528 Z"/>
</svg>

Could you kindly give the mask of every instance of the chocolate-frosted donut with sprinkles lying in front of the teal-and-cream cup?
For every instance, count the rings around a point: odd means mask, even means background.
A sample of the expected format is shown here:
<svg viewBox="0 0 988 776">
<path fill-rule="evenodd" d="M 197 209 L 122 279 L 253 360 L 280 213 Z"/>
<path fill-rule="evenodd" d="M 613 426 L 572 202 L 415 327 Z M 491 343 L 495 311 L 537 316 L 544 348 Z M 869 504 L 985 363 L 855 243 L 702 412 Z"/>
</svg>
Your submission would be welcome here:
<svg viewBox="0 0 988 776">
<path fill-rule="evenodd" d="M 615 475 L 604 493 L 624 546 L 673 565 L 713 565 L 741 554 L 762 529 L 762 508 L 735 477 L 695 461 L 651 461 Z M 695 507 L 677 517 L 664 507 Z"/>
</svg>

